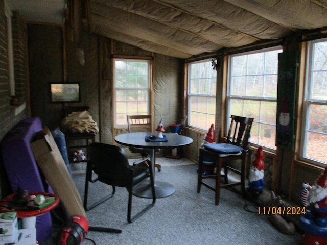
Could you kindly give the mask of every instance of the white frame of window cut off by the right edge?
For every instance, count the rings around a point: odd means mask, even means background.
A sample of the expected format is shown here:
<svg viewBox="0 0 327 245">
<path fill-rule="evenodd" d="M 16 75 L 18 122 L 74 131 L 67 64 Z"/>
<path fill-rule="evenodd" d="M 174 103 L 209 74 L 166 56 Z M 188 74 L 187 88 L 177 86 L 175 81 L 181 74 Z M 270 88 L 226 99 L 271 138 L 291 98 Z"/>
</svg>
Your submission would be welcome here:
<svg viewBox="0 0 327 245">
<path fill-rule="evenodd" d="M 299 151 L 299 160 L 305 161 L 316 166 L 320 166 L 325 168 L 327 166 L 327 162 L 321 162 L 316 159 L 312 159 L 305 156 L 307 150 L 307 140 L 308 140 L 308 131 L 310 127 L 309 119 L 310 119 L 310 106 L 311 105 L 323 105 L 327 106 L 326 100 L 318 100 L 309 97 L 312 91 L 312 66 L 313 66 L 313 46 L 319 42 L 327 42 L 327 38 L 321 38 L 316 40 L 311 40 L 307 42 L 307 58 L 306 58 L 306 74 L 305 74 L 305 85 L 304 85 L 304 93 L 303 93 L 303 101 L 302 101 L 302 120 L 301 120 L 301 139 L 300 139 L 300 151 Z"/>
</svg>

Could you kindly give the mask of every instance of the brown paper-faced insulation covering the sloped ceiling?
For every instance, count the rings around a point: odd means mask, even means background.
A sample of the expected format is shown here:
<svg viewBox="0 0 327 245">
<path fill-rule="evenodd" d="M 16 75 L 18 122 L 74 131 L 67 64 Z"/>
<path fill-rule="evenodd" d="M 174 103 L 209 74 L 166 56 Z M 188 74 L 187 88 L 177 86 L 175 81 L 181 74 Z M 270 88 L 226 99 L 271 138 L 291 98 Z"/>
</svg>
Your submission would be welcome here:
<svg viewBox="0 0 327 245">
<path fill-rule="evenodd" d="M 71 0 L 6 0 L 26 20 Z M 44 3 L 47 6 L 44 7 Z M 143 50 L 187 59 L 300 33 L 327 31 L 327 0 L 86 0 L 88 30 Z M 58 9 L 58 7 L 60 8 Z M 32 11 L 33 10 L 33 11 Z M 33 17 L 34 16 L 34 17 Z M 85 21 L 85 20 L 84 20 Z"/>
</svg>

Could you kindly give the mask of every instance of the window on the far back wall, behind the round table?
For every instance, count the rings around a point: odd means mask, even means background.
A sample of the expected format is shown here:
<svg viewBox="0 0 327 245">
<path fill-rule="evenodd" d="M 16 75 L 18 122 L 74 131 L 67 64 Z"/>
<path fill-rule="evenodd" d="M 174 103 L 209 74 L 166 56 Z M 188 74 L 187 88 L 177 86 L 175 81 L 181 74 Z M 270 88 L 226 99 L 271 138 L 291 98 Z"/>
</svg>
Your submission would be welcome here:
<svg viewBox="0 0 327 245">
<path fill-rule="evenodd" d="M 127 126 L 127 115 L 150 114 L 150 61 L 114 59 L 114 124 Z"/>
</svg>

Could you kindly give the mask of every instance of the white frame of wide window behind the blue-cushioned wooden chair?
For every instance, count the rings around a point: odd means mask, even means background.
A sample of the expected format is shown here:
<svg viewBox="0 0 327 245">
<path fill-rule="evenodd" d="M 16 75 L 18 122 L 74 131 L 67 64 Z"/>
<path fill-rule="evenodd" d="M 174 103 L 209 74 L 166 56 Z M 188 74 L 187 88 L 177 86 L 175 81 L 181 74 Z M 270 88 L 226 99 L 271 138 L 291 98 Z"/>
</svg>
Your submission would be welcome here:
<svg viewBox="0 0 327 245">
<path fill-rule="evenodd" d="M 283 52 L 283 47 L 278 45 L 278 46 L 273 46 L 273 47 L 267 47 L 267 48 L 262 48 L 260 50 L 253 50 L 253 51 L 248 51 L 248 52 L 242 52 L 238 54 L 232 54 L 228 56 L 228 70 L 227 70 L 227 89 L 226 89 L 226 128 L 225 128 L 225 133 L 227 135 L 228 129 L 229 129 L 229 124 L 230 124 L 230 115 L 231 115 L 231 101 L 232 100 L 242 100 L 242 101 L 260 101 L 260 102 L 274 102 L 276 103 L 277 107 L 277 92 L 276 92 L 276 97 L 269 97 L 269 96 L 249 96 L 249 95 L 231 95 L 231 72 L 232 72 L 232 58 L 237 57 L 237 56 L 244 56 L 244 55 L 251 55 L 251 54 L 259 54 L 259 53 L 265 53 L 265 52 L 270 52 L 270 51 L 277 51 L 281 50 Z M 278 57 L 277 57 L 278 60 Z M 265 72 L 262 74 L 263 76 L 268 75 L 265 74 Z M 277 64 L 277 85 L 278 85 L 278 64 Z M 248 76 L 248 75 L 247 75 Z M 253 75 L 251 75 L 253 76 Z M 277 91 L 277 88 L 276 88 Z M 261 107 L 261 105 L 260 105 Z M 277 108 L 276 108 L 277 112 Z M 242 115 L 246 116 L 246 115 Z M 260 115 L 259 115 L 260 116 Z M 277 116 L 277 115 L 275 115 Z M 260 122 L 260 119 L 255 118 L 253 120 L 254 124 L 258 124 L 259 127 L 262 125 L 267 125 L 267 126 L 274 126 L 275 131 L 276 131 L 276 120 L 274 121 L 274 124 L 269 124 L 268 122 Z M 259 135 L 258 135 L 259 137 Z M 275 139 L 276 140 L 276 139 Z M 251 141 L 251 138 L 249 138 L 249 141 Z M 252 145 L 254 146 L 259 146 L 258 143 L 253 143 L 251 142 Z M 260 145 L 263 146 L 265 150 L 268 150 L 270 152 L 276 152 L 277 147 L 276 147 L 276 141 L 275 141 L 275 147 L 271 148 L 268 145 Z"/>
</svg>

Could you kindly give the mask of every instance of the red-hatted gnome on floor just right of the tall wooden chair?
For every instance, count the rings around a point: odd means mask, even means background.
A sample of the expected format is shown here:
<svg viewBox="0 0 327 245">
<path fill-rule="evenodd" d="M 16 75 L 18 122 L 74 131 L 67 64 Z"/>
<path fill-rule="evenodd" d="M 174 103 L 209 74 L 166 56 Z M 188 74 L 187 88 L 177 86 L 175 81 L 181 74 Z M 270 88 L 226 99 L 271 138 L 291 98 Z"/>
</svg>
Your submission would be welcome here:
<svg viewBox="0 0 327 245">
<path fill-rule="evenodd" d="M 248 191 L 258 197 L 262 193 L 264 185 L 264 153 L 260 146 L 250 168 Z"/>
</svg>

